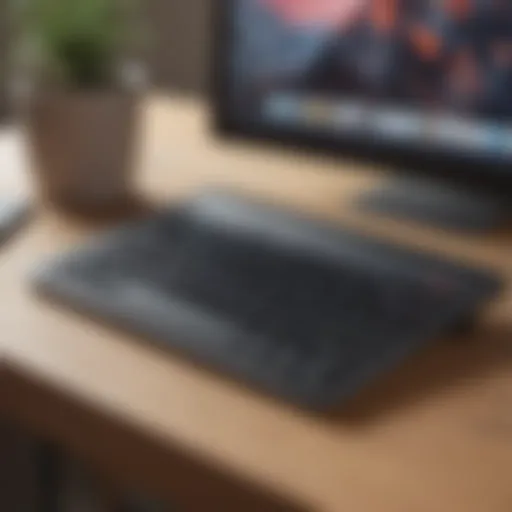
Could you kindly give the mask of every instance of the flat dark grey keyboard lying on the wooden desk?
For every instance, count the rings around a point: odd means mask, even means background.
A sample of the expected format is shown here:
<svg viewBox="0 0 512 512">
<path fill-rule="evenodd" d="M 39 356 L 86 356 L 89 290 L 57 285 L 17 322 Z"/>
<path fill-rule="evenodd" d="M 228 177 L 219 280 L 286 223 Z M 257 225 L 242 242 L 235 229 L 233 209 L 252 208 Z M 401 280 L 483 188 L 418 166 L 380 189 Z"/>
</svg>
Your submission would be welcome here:
<svg viewBox="0 0 512 512">
<path fill-rule="evenodd" d="M 210 191 L 37 272 L 46 297 L 326 409 L 475 315 L 492 273 Z"/>
</svg>

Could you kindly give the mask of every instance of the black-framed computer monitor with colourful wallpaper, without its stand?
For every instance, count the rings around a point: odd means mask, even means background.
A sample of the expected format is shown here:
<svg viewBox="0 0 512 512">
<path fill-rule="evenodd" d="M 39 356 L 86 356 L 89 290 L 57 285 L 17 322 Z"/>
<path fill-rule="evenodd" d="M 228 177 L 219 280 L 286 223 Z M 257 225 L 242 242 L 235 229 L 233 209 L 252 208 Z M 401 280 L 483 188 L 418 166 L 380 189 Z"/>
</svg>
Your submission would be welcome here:
<svg viewBox="0 0 512 512">
<path fill-rule="evenodd" d="M 512 202 L 510 0 L 224 0 L 218 15 L 223 133 Z"/>
</svg>

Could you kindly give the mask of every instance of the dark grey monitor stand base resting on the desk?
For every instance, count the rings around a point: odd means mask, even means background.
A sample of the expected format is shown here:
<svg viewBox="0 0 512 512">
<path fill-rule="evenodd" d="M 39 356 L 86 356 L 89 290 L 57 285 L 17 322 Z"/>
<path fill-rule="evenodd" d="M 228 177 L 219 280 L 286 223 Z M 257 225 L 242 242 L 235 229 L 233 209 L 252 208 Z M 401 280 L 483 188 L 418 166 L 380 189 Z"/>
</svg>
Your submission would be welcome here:
<svg viewBox="0 0 512 512">
<path fill-rule="evenodd" d="M 420 179 L 392 180 L 388 186 L 363 195 L 358 203 L 380 215 L 464 232 L 489 231 L 512 219 L 511 205 L 504 199 Z"/>
</svg>

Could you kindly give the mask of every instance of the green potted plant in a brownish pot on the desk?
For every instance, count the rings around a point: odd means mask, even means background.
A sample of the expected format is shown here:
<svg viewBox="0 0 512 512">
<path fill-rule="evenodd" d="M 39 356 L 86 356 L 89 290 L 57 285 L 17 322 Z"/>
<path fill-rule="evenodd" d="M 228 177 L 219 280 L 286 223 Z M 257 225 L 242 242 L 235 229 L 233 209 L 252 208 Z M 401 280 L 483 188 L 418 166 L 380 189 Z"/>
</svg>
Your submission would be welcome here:
<svg viewBox="0 0 512 512">
<path fill-rule="evenodd" d="M 139 6 L 133 0 L 14 2 L 18 85 L 24 85 L 43 196 L 91 213 L 125 206 L 140 104 L 127 63 L 139 39 Z"/>
</svg>

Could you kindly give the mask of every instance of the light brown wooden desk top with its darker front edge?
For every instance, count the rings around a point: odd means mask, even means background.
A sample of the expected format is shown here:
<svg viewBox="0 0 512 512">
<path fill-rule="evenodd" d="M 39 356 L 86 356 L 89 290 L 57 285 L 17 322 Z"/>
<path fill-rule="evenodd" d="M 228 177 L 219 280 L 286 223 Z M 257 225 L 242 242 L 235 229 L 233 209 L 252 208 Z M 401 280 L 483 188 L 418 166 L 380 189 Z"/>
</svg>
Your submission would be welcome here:
<svg viewBox="0 0 512 512">
<path fill-rule="evenodd" d="M 510 233 L 470 239 L 358 214 L 349 200 L 378 182 L 370 170 L 224 146 L 203 125 L 200 104 L 148 103 L 140 184 L 155 201 L 229 183 L 486 265 L 512 285 Z M 4 146 L 1 165 L 20 165 L 15 143 Z M 0 176 L 4 189 L 26 186 Z M 441 341 L 320 418 L 37 300 L 34 266 L 92 230 L 42 208 L 0 251 L 4 413 L 185 510 L 266 511 L 276 497 L 291 510 L 512 510 L 512 286 L 472 334 Z"/>
</svg>

